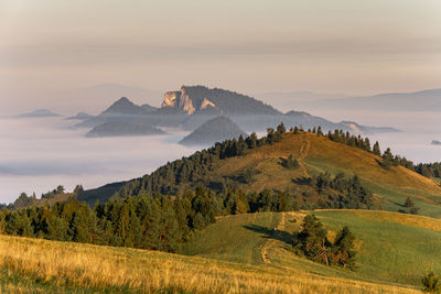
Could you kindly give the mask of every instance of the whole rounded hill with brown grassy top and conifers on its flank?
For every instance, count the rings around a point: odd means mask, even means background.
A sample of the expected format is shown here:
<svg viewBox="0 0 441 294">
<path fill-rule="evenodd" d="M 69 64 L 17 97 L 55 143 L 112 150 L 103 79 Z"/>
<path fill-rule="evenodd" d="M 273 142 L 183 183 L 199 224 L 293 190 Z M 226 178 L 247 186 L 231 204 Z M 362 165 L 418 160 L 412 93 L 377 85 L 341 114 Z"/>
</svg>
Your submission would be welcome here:
<svg viewBox="0 0 441 294">
<path fill-rule="evenodd" d="M 335 176 L 356 175 L 373 192 L 376 208 L 406 210 L 404 203 L 410 197 L 420 214 L 441 216 L 440 186 L 413 168 L 411 162 L 394 156 L 390 150 L 381 152 L 377 143 L 372 146 L 368 139 L 343 131 L 325 135 L 320 129 L 287 132 L 279 126 L 261 139 L 252 133 L 245 140 L 227 140 L 168 163 L 150 175 L 127 182 L 115 197 L 180 195 L 202 184 L 216 193 L 283 192 L 301 203 L 338 208 L 334 202 L 337 196 L 331 195 L 335 189 L 327 193 L 329 183 Z"/>
</svg>

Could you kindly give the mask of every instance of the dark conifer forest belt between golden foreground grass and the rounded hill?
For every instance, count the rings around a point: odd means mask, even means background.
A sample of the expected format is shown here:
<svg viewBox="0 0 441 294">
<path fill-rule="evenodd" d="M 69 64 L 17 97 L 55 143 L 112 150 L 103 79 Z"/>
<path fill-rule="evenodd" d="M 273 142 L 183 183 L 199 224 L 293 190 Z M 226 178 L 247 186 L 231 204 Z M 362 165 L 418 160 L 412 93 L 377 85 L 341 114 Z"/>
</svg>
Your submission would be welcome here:
<svg viewBox="0 0 441 294">
<path fill-rule="evenodd" d="M 300 208 L 369 207 L 369 194 L 357 177 L 338 175 L 332 179 L 323 174 L 311 183 L 322 195 L 319 197 L 322 202 L 312 204 L 300 195 L 269 189 L 216 194 L 202 185 L 180 196 L 142 194 L 97 203 L 94 208 L 69 198 L 52 206 L 3 209 L 0 213 L 0 233 L 179 252 L 194 231 L 213 224 L 216 216 Z"/>
</svg>

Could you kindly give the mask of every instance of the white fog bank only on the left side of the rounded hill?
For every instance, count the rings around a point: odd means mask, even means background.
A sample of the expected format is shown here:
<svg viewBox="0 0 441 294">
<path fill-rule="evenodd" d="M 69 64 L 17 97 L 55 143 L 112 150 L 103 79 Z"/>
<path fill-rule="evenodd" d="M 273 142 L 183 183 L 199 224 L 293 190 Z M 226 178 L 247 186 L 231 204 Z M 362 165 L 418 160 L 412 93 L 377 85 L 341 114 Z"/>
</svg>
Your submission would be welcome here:
<svg viewBox="0 0 441 294">
<path fill-rule="evenodd" d="M 139 177 L 195 149 L 176 144 L 185 133 L 85 138 L 63 118 L 0 119 L 0 203 L 21 192 L 37 197 L 64 185 L 72 190 Z"/>
</svg>

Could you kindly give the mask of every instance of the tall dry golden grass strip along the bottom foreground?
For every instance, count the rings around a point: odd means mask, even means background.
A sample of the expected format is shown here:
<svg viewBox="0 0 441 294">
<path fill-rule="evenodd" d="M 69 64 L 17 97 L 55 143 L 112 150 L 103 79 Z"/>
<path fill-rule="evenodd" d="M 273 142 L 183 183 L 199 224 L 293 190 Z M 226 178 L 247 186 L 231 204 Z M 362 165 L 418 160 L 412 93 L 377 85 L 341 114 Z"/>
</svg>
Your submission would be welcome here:
<svg viewBox="0 0 441 294">
<path fill-rule="evenodd" d="M 159 290 L 196 293 L 417 293 L 398 285 L 324 277 L 290 268 L 246 265 L 163 252 L 6 236 L 0 236 L 0 264 L 35 281 L 94 290 L 147 293 Z"/>
</svg>

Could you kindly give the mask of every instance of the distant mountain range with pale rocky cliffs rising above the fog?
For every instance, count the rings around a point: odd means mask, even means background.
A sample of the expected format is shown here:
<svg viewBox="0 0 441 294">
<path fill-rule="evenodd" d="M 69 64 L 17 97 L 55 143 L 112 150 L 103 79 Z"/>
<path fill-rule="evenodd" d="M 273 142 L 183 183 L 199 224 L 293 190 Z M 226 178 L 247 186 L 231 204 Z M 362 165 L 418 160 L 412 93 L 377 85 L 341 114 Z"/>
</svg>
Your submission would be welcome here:
<svg viewBox="0 0 441 294">
<path fill-rule="evenodd" d="M 236 124 L 243 133 L 265 132 L 267 128 L 275 128 L 280 122 L 287 127 L 298 126 L 304 129 L 321 126 L 324 131 L 335 129 L 357 133 L 398 131 L 386 127 L 361 126 L 356 122 L 332 122 L 302 111 L 291 110 L 283 113 L 252 97 L 204 86 L 182 86 L 180 90 L 165 92 L 161 108 L 147 104 L 138 106 L 122 97 L 98 116 L 85 119 L 75 127 L 93 129 L 88 132 L 88 137 L 157 134 L 161 127 L 194 131 L 219 116 L 228 118 L 228 121 Z M 232 124 L 226 123 L 227 127 Z M 205 132 L 205 142 L 219 141 L 215 132 Z"/>
</svg>

